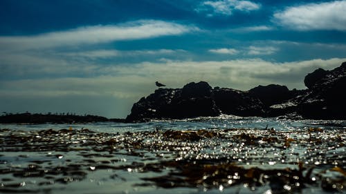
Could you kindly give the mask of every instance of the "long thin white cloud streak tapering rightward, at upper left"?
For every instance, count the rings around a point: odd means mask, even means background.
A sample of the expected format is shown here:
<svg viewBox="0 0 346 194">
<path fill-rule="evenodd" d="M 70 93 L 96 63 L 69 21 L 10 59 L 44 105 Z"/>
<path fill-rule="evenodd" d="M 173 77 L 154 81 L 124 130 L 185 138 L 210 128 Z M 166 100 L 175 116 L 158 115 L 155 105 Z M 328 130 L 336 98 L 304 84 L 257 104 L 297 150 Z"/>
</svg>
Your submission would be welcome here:
<svg viewBox="0 0 346 194">
<path fill-rule="evenodd" d="M 198 30 L 198 28 L 167 21 L 140 20 L 113 26 L 86 26 L 73 30 L 49 32 L 42 35 L 0 37 L 0 50 L 24 50 L 107 43 L 129 39 L 147 39 L 166 35 L 181 35 L 193 30 Z"/>
</svg>

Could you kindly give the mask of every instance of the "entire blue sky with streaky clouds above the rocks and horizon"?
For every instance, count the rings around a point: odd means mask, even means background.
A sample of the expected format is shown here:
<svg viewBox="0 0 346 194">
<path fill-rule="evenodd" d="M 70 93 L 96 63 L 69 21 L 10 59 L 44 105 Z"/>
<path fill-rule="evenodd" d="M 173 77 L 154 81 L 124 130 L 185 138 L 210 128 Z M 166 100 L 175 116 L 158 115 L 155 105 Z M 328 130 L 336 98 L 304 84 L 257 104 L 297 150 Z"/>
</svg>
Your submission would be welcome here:
<svg viewBox="0 0 346 194">
<path fill-rule="evenodd" d="M 1 0 L 0 110 L 125 118 L 194 81 L 304 89 L 346 61 L 346 1 Z"/>
</svg>

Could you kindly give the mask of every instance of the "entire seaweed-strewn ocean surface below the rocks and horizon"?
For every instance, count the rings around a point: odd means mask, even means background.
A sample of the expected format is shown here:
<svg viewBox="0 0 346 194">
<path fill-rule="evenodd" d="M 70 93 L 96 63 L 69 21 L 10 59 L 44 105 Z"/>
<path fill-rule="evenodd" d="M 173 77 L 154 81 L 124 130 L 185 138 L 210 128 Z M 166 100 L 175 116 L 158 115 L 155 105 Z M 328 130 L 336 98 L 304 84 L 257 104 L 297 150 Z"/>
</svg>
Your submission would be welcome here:
<svg viewBox="0 0 346 194">
<path fill-rule="evenodd" d="M 0 124 L 0 193 L 345 193 L 346 121 Z"/>
</svg>

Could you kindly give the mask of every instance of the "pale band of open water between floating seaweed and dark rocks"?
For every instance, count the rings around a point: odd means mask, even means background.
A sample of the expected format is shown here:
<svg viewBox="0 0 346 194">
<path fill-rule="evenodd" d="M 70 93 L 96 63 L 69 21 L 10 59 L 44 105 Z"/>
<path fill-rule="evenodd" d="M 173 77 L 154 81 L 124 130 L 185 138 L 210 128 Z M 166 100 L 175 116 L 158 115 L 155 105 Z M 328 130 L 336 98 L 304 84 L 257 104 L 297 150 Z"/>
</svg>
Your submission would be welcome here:
<svg viewBox="0 0 346 194">
<path fill-rule="evenodd" d="M 47 128 L 92 128 L 97 132 L 125 133 L 137 130 L 198 130 L 198 129 L 226 129 L 226 128 L 274 128 L 279 131 L 301 130 L 303 128 L 346 128 L 346 121 L 325 120 L 291 120 L 261 117 L 236 117 L 221 115 L 220 117 L 199 117 L 181 120 L 153 120 L 147 123 L 125 124 L 100 122 L 93 124 L 0 124 L 0 128 L 17 130 L 42 130 Z"/>
</svg>

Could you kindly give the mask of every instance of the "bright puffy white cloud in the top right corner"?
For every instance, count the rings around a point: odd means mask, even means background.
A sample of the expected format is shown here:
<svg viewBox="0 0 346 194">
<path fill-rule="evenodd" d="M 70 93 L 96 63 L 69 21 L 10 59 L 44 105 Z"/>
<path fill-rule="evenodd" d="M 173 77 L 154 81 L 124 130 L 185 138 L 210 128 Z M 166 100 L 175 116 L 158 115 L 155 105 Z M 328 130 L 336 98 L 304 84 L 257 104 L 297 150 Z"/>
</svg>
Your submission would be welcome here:
<svg viewBox="0 0 346 194">
<path fill-rule="evenodd" d="M 346 1 L 309 3 L 276 12 L 273 21 L 295 30 L 346 30 Z"/>
</svg>

